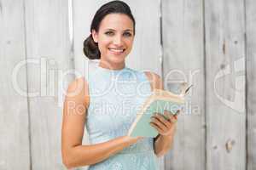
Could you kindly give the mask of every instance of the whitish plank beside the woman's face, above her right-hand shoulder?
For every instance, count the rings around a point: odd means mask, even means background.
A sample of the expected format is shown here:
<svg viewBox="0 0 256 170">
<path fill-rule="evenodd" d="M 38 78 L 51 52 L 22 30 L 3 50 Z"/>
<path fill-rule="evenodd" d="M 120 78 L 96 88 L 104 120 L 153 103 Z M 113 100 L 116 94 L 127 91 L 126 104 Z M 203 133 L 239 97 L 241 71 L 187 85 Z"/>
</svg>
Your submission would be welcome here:
<svg viewBox="0 0 256 170">
<path fill-rule="evenodd" d="M 137 22 L 133 49 L 126 63 L 136 70 L 149 70 L 160 74 L 160 1 L 125 2 L 131 6 Z"/>
</svg>

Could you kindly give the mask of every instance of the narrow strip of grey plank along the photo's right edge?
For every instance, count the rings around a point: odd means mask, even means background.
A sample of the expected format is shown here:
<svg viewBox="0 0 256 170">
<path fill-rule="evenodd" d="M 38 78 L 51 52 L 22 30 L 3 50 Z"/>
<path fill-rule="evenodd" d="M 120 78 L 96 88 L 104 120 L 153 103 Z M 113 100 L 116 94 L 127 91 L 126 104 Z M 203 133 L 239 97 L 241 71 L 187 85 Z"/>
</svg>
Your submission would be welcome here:
<svg viewBox="0 0 256 170">
<path fill-rule="evenodd" d="M 256 2 L 245 1 L 247 28 L 247 170 L 256 169 Z"/>
</svg>

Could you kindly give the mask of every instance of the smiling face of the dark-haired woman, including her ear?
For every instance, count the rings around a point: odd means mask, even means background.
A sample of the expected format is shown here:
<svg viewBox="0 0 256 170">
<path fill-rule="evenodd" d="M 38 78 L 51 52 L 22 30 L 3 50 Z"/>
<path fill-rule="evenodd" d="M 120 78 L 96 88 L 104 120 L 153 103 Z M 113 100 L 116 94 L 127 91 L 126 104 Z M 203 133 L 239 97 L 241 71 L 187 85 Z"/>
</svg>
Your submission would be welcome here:
<svg viewBox="0 0 256 170">
<path fill-rule="evenodd" d="M 108 65 L 122 65 L 131 52 L 134 39 L 133 22 L 126 14 L 108 14 L 102 20 L 99 31 L 92 31 L 98 42 L 101 60 Z"/>
</svg>

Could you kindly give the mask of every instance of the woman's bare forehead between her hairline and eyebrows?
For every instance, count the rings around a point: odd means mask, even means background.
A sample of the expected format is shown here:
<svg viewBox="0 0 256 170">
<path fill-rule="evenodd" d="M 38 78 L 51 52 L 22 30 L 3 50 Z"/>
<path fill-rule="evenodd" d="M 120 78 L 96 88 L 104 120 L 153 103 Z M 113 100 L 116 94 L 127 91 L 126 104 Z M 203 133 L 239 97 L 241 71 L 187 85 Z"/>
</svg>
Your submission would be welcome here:
<svg viewBox="0 0 256 170">
<path fill-rule="evenodd" d="M 133 30 L 133 22 L 126 14 L 107 14 L 101 22 L 100 30 Z"/>
</svg>

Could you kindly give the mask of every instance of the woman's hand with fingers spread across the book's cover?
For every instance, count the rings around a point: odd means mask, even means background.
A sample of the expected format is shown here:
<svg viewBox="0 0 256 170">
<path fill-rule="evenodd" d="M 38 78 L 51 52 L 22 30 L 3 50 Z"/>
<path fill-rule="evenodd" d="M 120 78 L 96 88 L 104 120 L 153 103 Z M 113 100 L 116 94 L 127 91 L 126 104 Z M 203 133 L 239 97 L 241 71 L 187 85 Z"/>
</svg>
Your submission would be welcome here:
<svg viewBox="0 0 256 170">
<path fill-rule="evenodd" d="M 179 113 L 180 111 L 177 111 L 177 113 L 173 115 L 172 112 L 165 111 L 164 115 L 168 118 L 167 120 L 164 116 L 156 113 L 151 117 L 150 125 L 163 136 L 172 135 L 176 129 L 177 115 Z"/>
</svg>

